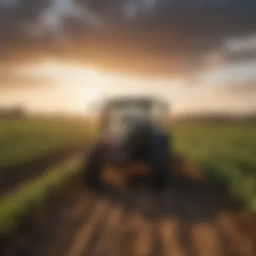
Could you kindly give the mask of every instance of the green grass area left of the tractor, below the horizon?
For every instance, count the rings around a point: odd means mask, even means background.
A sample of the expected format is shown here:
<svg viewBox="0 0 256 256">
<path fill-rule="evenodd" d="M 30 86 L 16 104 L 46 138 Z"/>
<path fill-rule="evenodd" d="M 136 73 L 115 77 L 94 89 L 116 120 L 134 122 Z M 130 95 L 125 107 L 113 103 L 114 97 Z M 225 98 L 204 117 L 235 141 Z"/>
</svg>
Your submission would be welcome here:
<svg viewBox="0 0 256 256">
<path fill-rule="evenodd" d="M 87 142 L 92 137 L 88 121 L 0 120 L 0 170 L 18 166 L 38 156 Z"/>
</svg>

